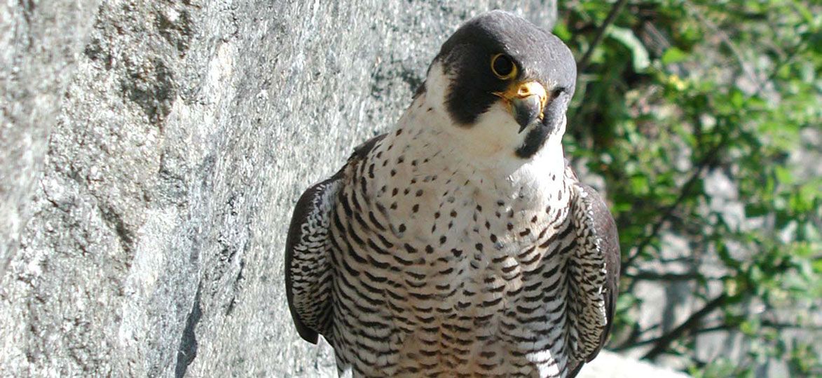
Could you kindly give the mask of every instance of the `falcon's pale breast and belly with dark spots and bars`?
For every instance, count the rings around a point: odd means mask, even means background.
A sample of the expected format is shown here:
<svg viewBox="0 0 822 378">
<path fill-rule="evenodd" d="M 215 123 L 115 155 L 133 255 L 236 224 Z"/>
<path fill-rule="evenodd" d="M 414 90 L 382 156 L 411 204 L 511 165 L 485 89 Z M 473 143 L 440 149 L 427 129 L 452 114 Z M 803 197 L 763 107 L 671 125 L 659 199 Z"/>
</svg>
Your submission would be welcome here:
<svg viewBox="0 0 822 378">
<path fill-rule="evenodd" d="M 579 242 L 566 177 L 552 177 L 552 193 L 489 191 L 445 159 L 392 153 L 401 136 L 344 172 L 331 225 L 339 365 L 355 376 L 564 374 Z"/>
</svg>

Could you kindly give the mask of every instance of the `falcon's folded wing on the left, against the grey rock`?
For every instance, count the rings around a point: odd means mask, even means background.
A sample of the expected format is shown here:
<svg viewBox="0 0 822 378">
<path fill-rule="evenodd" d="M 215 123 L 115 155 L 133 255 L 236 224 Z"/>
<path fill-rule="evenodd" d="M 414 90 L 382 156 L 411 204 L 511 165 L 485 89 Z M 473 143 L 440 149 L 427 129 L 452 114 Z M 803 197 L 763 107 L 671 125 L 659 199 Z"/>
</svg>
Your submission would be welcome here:
<svg viewBox="0 0 822 378">
<path fill-rule="evenodd" d="M 316 343 L 318 334 L 329 337 L 333 321 L 330 224 L 339 191 L 346 184 L 345 168 L 364 159 L 384 136 L 355 148 L 342 169 L 309 187 L 294 206 L 285 241 L 285 292 L 297 332 L 309 343 Z"/>
</svg>

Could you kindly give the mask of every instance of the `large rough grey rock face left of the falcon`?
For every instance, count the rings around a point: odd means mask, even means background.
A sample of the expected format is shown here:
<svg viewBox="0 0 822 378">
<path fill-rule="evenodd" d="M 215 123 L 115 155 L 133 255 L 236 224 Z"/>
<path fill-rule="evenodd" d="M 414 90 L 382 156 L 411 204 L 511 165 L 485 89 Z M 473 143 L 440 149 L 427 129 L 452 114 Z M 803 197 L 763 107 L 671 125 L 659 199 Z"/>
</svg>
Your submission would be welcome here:
<svg viewBox="0 0 822 378">
<path fill-rule="evenodd" d="M 293 204 L 498 5 L 4 2 L 0 376 L 334 376 L 286 305 Z"/>
</svg>

